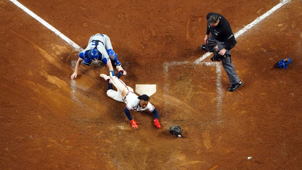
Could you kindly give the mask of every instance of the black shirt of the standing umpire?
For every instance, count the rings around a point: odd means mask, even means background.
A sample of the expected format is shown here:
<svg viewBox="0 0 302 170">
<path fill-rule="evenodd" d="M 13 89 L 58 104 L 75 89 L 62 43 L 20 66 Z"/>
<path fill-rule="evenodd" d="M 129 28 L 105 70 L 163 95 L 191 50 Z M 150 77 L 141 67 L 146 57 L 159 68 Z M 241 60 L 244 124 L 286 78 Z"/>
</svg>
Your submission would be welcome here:
<svg viewBox="0 0 302 170">
<path fill-rule="evenodd" d="M 207 14 L 207 20 L 210 18 L 211 15 L 217 15 L 219 17 L 219 23 L 216 27 L 211 27 L 209 22 L 207 23 L 207 35 L 210 34 L 218 41 L 224 41 L 226 46 L 224 47 L 226 50 L 232 49 L 235 44 L 235 37 L 233 35 L 231 26 L 229 22 L 224 18 L 222 15 L 210 12 Z"/>
</svg>

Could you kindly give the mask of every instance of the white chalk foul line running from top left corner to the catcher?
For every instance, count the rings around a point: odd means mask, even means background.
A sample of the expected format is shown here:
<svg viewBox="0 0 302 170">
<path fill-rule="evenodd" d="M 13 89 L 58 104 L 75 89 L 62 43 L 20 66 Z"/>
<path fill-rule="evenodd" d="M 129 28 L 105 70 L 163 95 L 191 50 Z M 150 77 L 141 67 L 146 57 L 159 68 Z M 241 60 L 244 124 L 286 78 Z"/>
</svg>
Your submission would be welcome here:
<svg viewBox="0 0 302 170">
<path fill-rule="evenodd" d="M 71 41 L 68 37 L 66 37 L 64 34 L 62 34 L 60 31 L 58 31 L 56 28 L 48 24 L 46 21 L 44 21 L 42 18 L 40 18 L 38 15 L 34 14 L 31 10 L 26 8 L 24 5 L 19 3 L 16 0 L 10 0 L 15 5 L 17 5 L 19 8 L 23 9 L 27 14 L 31 15 L 33 18 L 35 18 L 37 21 L 39 21 L 41 24 L 43 24 L 45 27 L 49 28 L 51 31 L 59 35 L 63 40 L 65 40 L 67 43 L 71 44 L 76 50 L 82 51 L 83 49 L 76 44 L 75 42 Z"/>
</svg>

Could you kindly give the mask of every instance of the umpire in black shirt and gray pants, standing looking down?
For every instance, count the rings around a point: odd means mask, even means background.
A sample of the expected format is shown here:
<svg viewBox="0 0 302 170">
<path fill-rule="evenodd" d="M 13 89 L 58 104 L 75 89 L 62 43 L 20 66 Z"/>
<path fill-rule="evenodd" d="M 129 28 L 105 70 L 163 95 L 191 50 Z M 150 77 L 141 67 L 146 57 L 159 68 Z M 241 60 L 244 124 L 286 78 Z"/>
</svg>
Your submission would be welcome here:
<svg viewBox="0 0 302 170">
<path fill-rule="evenodd" d="M 210 34 L 211 33 L 211 34 Z M 210 34 L 210 37 L 209 37 Z M 216 50 L 216 44 L 220 55 L 227 55 L 222 59 L 222 66 L 229 77 L 231 86 L 228 88 L 230 92 L 237 90 L 242 86 L 242 82 L 239 79 L 235 67 L 231 60 L 231 49 L 236 45 L 236 40 L 233 35 L 229 22 L 222 15 L 210 12 L 207 14 L 207 34 L 204 38 L 204 42 L 201 49 L 204 51 L 214 52 Z"/>
</svg>

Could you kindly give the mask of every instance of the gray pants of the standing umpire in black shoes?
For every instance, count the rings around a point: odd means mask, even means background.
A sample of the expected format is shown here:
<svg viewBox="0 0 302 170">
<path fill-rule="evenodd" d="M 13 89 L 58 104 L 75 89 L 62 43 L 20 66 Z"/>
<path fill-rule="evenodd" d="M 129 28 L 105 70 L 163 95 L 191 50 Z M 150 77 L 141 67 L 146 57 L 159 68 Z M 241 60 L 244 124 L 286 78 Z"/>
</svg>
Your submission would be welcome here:
<svg viewBox="0 0 302 170">
<path fill-rule="evenodd" d="M 222 50 L 226 46 L 225 42 L 217 41 L 215 38 L 213 38 L 212 35 L 210 35 L 205 50 L 214 52 L 216 50 L 216 44 L 218 45 L 218 50 Z M 226 54 L 231 54 L 231 51 L 226 50 Z M 226 74 L 229 77 L 229 81 L 231 84 L 239 83 L 240 79 L 236 73 L 231 57 L 225 57 L 222 59 L 222 67 L 226 71 Z"/>
</svg>

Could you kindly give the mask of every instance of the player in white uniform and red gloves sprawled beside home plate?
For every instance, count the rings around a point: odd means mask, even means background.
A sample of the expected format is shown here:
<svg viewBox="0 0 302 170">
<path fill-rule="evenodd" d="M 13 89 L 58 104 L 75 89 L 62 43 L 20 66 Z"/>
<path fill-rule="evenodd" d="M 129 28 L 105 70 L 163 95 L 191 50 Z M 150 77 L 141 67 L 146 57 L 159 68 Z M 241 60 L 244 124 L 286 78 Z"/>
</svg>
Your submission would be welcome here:
<svg viewBox="0 0 302 170">
<path fill-rule="evenodd" d="M 119 79 L 122 75 L 123 75 L 123 70 L 120 70 L 117 74 L 115 74 L 112 77 L 109 77 L 106 74 L 100 74 L 100 76 L 107 81 L 107 85 L 108 85 L 107 95 L 114 100 L 126 103 L 124 112 L 131 123 L 131 129 L 139 128 L 138 126 L 139 123 L 136 122 L 130 114 L 130 110 L 132 109 L 134 111 L 149 110 L 150 112 L 152 112 L 154 115 L 154 120 L 153 120 L 154 125 L 158 129 L 160 129 L 161 126 L 158 121 L 159 114 L 156 108 L 149 102 L 149 96 L 147 96 L 146 94 L 137 96 L 134 93 L 133 88 L 127 86 L 122 80 Z M 113 86 L 111 83 L 117 88 L 117 91 L 113 90 Z"/>
</svg>

